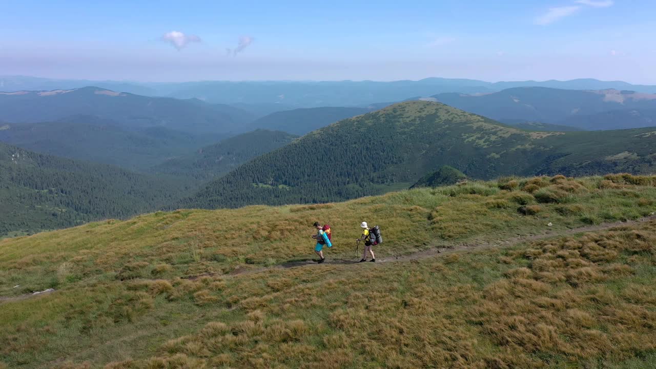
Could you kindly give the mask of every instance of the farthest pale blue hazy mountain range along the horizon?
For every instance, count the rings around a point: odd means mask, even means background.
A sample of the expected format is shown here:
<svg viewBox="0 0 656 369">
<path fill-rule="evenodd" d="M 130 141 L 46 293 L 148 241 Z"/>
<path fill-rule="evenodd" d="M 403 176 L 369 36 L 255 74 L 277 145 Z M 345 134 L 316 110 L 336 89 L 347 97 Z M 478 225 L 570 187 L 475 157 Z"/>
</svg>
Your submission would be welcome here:
<svg viewBox="0 0 656 369">
<path fill-rule="evenodd" d="M 23 76 L 0 77 L 0 91 L 75 89 L 89 85 L 137 95 L 199 98 L 206 102 L 266 106 L 260 116 L 277 111 L 275 104 L 289 108 L 319 106 L 367 106 L 396 102 L 413 96 L 439 93 L 492 93 L 514 87 L 550 87 L 556 89 L 631 90 L 656 93 L 653 85 L 632 85 L 623 81 L 573 79 L 571 81 L 487 82 L 476 79 L 426 78 L 419 81 L 195 81 L 184 83 L 136 83 L 122 81 L 86 81 L 46 79 Z M 250 110 L 250 109 L 249 109 Z"/>
</svg>

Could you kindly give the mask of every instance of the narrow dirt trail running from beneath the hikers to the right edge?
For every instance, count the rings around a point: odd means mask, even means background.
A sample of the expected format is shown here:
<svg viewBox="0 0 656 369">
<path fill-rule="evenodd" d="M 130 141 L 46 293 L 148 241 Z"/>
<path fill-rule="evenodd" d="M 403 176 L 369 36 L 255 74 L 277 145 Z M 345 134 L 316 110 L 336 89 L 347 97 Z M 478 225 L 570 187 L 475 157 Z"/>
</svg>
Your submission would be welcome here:
<svg viewBox="0 0 656 369">
<path fill-rule="evenodd" d="M 646 221 L 650 220 L 655 220 L 656 215 L 651 215 L 649 217 L 644 217 L 642 219 L 638 219 L 636 221 L 619 221 L 619 222 L 614 222 L 614 223 L 602 223 L 600 225 L 590 225 L 586 227 L 579 227 L 579 228 L 571 228 L 567 230 L 546 230 L 546 232 L 541 233 L 541 234 L 533 234 L 529 236 L 517 236 L 517 237 L 512 237 L 512 238 L 504 238 L 503 240 L 499 240 L 497 242 L 468 242 L 464 244 L 449 244 L 447 246 L 443 247 L 438 247 L 438 248 L 430 248 L 427 250 L 421 250 L 421 251 L 415 251 L 413 253 L 408 253 L 405 255 L 398 255 L 398 256 L 391 256 L 391 257 L 383 257 L 380 259 L 377 259 L 377 263 L 389 263 L 393 261 L 413 261 L 417 259 L 424 259 L 425 257 L 434 257 L 434 256 L 439 256 L 439 255 L 447 255 L 449 253 L 456 253 L 456 252 L 462 252 L 462 251 L 468 251 L 468 250 L 480 250 L 480 249 L 485 249 L 485 248 L 495 248 L 499 246 L 513 246 L 516 244 L 522 244 L 523 242 L 532 242 L 532 241 L 537 241 L 537 240 L 543 240 L 546 238 L 554 238 L 554 237 L 560 237 L 560 236 L 569 236 L 572 234 L 577 234 L 577 233 L 584 233 L 584 232 L 596 232 L 599 230 L 607 230 L 615 227 L 623 227 L 627 225 L 636 225 L 639 223 L 644 223 Z M 326 259 L 326 261 L 323 263 L 324 265 L 348 265 L 348 264 L 356 264 L 358 261 L 355 260 L 344 260 L 344 259 Z M 278 265 L 274 265 L 272 267 L 263 267 L 263 268 L 256 268 L 256 269 L 246 269 L 246 268 L 240 268 L 232 271 L 230 274 L 231 275 L 239 275 L 239 274 L 251 274 L 251 273 L 256 273 L 256 272 L 262 272 L 262 271 L 269 271 L 271 269 L 281 269 L 281 268 L 294 268 L 294 267 L 302 267 L 304 265 L 316 265 L 317 262 L 312 259 L 307 259 L 307 260 L 298 260 L 298 261 L 290 261 L 287 263 L 281 263 Z"/>
</svg>

